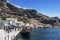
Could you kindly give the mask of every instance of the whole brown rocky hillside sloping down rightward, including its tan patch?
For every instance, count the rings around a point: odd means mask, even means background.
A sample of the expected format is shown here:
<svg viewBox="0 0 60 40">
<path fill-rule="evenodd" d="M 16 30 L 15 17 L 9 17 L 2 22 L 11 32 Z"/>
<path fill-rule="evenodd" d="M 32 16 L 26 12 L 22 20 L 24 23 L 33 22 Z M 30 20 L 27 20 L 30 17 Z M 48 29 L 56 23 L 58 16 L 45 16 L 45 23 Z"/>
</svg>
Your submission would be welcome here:
<svg viewBox="0 0 60 40">
<path fill-rule="evenodd" d="M 10 3 L 2 3 L 0 2 L 0 17 L 18 17 L 29 23 L 33 23 L 35 25 L 47 25 L 50 24 L 52 26 L 60 26 L 60 19 L 58 17 L 49 17 L 43 15 L 42 13 L 38 13 L 34 9 L 23 9 L 18 8 Z"/>
</svg>

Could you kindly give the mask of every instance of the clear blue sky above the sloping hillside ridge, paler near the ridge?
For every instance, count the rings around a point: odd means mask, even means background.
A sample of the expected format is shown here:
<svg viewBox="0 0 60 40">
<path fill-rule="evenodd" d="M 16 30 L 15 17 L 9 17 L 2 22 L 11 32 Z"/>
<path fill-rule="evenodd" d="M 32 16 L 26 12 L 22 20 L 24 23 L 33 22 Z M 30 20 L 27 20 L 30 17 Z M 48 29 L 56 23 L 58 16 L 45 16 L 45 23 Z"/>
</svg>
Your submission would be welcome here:
<svg viewBox="0 0 60 40">
<path fill-rule="evenodd" d="M 22 8 L 32 8 L 44 15 L 60 18 L 60 0 L 8 0 Z"/>
</svg>

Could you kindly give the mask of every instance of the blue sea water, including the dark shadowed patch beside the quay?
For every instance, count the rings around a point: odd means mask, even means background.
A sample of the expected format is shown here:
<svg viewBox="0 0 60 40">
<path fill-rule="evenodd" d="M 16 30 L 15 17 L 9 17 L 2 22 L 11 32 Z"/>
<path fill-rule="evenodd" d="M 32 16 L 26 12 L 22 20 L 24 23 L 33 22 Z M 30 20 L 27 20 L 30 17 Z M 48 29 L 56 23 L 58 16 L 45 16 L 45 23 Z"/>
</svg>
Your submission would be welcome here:
<svg viewBox="0 0 60 40">
<path fill-rule="evenodd" d="M 60 40 L 60 28 L 36 28 L 20 36 L 22 40 Z"/>
</svg>

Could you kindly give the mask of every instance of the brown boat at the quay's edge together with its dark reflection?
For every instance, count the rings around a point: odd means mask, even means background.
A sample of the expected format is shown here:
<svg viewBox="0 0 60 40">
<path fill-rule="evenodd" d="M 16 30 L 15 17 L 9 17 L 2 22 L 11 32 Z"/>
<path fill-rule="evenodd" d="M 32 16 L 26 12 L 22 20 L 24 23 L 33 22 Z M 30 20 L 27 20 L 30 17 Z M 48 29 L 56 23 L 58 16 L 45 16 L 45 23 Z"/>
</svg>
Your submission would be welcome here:
<svg viewBox="0 0 60 40">
<path fill-rule="evenodd" d="M 21 31 L 20 35 L 21 35 L 21 38 L 23 38 L 23 39 L 29 39 L 30 38 L 30 28 L 29 28 L 29 26 L 24 26 L 22 28 L 22 31 Z"/>
</svg>

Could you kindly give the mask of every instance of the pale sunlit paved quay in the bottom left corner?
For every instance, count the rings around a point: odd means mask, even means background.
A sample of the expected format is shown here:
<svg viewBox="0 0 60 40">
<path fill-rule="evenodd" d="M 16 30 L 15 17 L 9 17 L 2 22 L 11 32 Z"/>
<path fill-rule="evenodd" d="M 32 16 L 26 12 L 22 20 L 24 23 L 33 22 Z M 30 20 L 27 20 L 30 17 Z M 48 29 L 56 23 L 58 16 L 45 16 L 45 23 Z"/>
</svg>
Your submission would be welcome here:
<svg viewBox="0 0 60 40">
<path fill-rule="evenodd" d="M 20 32 L 20 30 L 15 31 L 11 30 L 10 33 L 7 33 L 3 29 L 0 29 L 0 40 L 12 40 Z"/>
</svg>

